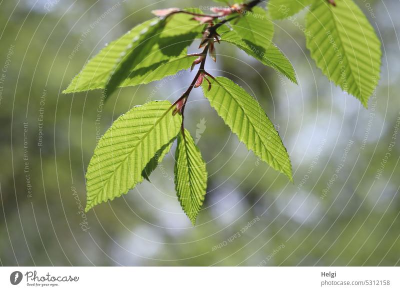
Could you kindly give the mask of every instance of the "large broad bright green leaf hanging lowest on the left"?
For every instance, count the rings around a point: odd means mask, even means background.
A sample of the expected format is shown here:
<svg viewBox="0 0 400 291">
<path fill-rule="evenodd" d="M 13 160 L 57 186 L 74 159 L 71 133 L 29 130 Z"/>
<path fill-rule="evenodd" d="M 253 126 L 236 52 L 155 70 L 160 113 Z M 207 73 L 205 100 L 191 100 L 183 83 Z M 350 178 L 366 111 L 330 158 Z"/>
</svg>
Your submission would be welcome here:
<svg viewBox="0 0 400 291">
<path fill-rule="evenodd" d="M 142 170 L 157 151 L 179 132 L 181 116 L 169 101 L 130 109 L 99 140 L 86 172 L 85 211 L 126 194 L 143 181 Z"/>
</svg>

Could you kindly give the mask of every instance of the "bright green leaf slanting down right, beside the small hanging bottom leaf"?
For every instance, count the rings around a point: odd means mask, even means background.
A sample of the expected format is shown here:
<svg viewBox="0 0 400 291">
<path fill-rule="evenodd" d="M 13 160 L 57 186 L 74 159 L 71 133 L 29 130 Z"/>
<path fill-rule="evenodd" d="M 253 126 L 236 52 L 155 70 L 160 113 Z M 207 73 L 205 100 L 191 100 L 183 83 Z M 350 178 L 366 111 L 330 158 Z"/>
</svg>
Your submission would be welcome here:
<svg viewBox="0 0 400 291">
<path fill-rule="evenodd" d="M 258 102 L 233 81 L 216 77 L 211 90 L 202 85 L 205 97 L 247 149 L 292 181 L 289 155 Z"/>
</svg>

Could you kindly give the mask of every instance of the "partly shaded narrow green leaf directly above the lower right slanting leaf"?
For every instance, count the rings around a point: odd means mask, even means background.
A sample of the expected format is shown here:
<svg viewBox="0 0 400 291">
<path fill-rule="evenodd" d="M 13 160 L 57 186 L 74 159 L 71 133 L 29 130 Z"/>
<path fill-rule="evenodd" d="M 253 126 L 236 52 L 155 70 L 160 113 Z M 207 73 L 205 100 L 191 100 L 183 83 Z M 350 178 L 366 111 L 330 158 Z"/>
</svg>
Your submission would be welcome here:
<svg viewBox="0 0 400 291">
<path fill-rule="evenodd" d="M 229 30 L 226 26 L 221 26 L 218 32 L 221 33 L 221 41 L 234 44 L 248 55 L 259 60 L 262 64 L 272 67 L 285 75 L 290 81 L 297 84 L 293 66 L 274 44 L 270 45 L 265 50 L 265 48 L 259 47 L 255 43 L 242 39 L 235 31 Z"/>
</svg>

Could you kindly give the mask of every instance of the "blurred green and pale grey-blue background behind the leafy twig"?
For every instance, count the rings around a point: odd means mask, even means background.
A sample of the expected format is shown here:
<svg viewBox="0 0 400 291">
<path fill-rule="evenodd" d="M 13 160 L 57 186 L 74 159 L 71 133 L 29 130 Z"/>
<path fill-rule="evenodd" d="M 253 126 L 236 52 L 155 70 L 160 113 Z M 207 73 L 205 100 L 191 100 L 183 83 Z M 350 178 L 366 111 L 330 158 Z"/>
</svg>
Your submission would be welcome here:
<svg viewBox="0 0 400 291">
<path fill-rule="evenodd" d="M 152 9 L 212 2 L 1 0 L 0 264 L 399 266 L 400 2 L 355 2 L 382 41 L 381 79 L 368 109 L 315 67 L 301 31 L 304 12 L 276 21 L 274 38 L 298 86 L 217 45 L 208 71 L 232 78 L 261 103 L 290 153 L 294 184 L 248 152 L 193 90 L 185 124 L 209 178 L 192 227 L 174 191 L 174 148 L 152 183 L 80 211 L 97 134 L 134 105 L 175 100 L 192 74 L 124 88 L 104 105 L 100 91 L 61 91 Z"/>
</svg>

